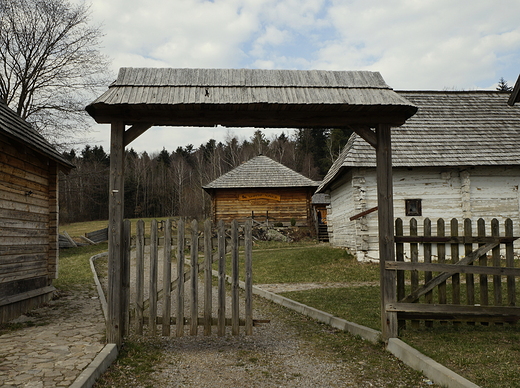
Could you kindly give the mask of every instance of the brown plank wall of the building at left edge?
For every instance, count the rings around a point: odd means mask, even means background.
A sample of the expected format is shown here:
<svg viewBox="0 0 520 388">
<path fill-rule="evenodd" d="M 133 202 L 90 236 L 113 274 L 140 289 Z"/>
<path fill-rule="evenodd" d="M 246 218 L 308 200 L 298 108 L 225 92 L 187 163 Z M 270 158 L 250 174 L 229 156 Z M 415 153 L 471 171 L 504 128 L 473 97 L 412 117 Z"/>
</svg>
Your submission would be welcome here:
<svg viewBox="0 0 520 388">
<path fill-rule="evenodd" d="M 49 285 L 58 257 L 58 167 L 0 135 L 0 295 Z M 31 281 L 29 281 L 31 279 Z"/>
</svg>

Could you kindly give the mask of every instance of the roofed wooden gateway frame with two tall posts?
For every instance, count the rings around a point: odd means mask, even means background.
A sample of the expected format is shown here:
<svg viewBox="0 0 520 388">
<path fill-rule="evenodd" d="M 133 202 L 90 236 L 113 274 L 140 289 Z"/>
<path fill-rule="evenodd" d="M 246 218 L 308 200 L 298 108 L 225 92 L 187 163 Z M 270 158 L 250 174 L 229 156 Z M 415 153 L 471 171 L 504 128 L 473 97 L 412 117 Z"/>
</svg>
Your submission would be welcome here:
<svg viewBox="0 0 520 388">
<path fill-rule="evenodd" d="M 390 128 L 404 124 L 417 107 L 377 72 L 122 68 L 86 109 L 96 122 L 111 125 L 109 342 L 121 345 L 127 309 L 121 303 L 121 268 L 129 260 L 122 249 L 124 148 L 154 125 L 352 128 L 376 148 L 380 250 L 385 260 L 395 260 Z M 382 305 L 395 299 L 391 292 L 383 292 Z M 397 316 L 383 314 L 381 321 L 383 337 L 395 336 Z"/>
</svg>

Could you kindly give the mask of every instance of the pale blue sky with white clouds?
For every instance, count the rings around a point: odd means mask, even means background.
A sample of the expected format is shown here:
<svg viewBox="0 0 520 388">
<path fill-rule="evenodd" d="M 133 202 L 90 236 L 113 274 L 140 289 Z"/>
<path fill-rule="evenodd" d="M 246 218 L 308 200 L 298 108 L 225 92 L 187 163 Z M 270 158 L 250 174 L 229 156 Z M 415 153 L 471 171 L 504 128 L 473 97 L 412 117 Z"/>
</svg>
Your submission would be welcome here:
<svg viewBox="0 0 520 388">
<path fill-rule="evenodd" d="M 82 3 L 83 0 L 71 0 Z M 520 74 L 518 0 L 91 0 L 121 67 L 378 71 L 395 90 L 495 89 Z M 108 87 L 108 85 L 107 85 Z M 263 130 L 267 137 L 284 131 Z M 89 144 L 109 150 L 109 125 Z M 129 147 L 169 152 L 254 129 L 151 128 Z"/>
</svg>

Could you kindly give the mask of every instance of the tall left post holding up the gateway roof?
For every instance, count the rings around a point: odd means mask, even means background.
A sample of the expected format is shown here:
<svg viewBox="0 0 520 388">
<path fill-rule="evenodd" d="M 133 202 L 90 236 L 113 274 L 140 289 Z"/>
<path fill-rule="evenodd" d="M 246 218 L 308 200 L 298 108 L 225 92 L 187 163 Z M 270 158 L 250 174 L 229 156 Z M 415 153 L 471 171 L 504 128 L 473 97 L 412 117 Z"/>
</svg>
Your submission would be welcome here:
<svg viewBox="0 0 520 388">
<path fill-rule="evenodd" d="M 108 231 L 108 321 L 107 341 L 121 347 L 123 343 L 122 261 L 124 209 L 124 147 L 125 125 L 113 122 L 110 133 L 110 183 Z"/>
</svg>

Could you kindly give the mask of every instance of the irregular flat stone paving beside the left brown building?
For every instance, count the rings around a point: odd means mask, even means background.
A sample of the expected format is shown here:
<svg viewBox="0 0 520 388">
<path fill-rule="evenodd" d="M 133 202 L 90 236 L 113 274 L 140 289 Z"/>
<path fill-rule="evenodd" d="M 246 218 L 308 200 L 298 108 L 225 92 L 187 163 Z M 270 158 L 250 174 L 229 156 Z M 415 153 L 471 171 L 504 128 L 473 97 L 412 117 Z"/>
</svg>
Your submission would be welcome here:
<svg viewBox="0 0 520 388">
<path fill-rule="evenodd" d="M 94 291 L 70 291 L 12 321 L 0 335 L 1 387 L 68 387 L 105 345 Z"/>
</svg>

